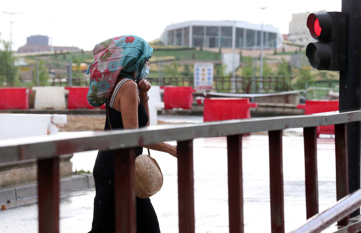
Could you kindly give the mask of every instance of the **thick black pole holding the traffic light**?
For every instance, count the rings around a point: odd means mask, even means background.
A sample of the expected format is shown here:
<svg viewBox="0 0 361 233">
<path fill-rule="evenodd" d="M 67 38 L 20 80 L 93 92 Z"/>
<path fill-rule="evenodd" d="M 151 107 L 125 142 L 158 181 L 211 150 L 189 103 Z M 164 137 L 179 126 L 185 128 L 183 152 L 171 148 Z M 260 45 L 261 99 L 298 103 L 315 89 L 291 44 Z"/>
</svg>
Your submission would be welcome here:
<svg viewBox="0 0 361 233">
<path fill-rule="evenodd" d="M 361 1 L 342 0 L 342 12 L 347 13 L 346 69 L 340 71 L 339 110 L 361 108 Z M 361 124 L 347 124 L 349 193 L 360 188 Z M 350 217 L 360 214 L 360 209 Z"/>
</svg>

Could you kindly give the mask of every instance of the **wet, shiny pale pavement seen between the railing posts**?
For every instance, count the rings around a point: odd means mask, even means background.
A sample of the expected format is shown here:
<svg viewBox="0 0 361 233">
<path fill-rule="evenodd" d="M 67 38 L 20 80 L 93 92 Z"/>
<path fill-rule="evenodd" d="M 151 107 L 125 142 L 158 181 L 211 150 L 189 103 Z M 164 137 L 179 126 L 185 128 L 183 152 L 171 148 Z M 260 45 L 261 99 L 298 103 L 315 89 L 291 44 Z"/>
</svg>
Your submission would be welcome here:
<svg viewBox="0 0 361 233">
<path fill-rule="evenodd" d="M 180 120 L 184 122 L 184 119 Z M 283 137 L 284 219 L 286 232 L 306 221 L 304 148 L 302 129 L 285 130 Z M 176 142 L 170 142 L 176 144 Z M 196 232 L 223 233 L 228 228 L 226 137 L 193 141 Z M 335 144 L 329 135 L 318 139 L 319 210 L 336 202 Z M 97 151 L 76 153 L 73 170 L 92 171 Z M 144 150 L 144 153 L 146 151 Z M 151 200 L 163 233 L 178 232 L 177 159 L 152 151 L 164 184 Z M 269 153 L 267 135 L 243 137 L 243 188 L 245 232 L 270 232 Z M 91 229 L 94 190 L 73 192 L 61 198 L 60 232 Z M 37 205 L 0 211 L 0 232 L 37 232 Z M 325 230 L 332 232 L 335 228 Z"/>
</svg>

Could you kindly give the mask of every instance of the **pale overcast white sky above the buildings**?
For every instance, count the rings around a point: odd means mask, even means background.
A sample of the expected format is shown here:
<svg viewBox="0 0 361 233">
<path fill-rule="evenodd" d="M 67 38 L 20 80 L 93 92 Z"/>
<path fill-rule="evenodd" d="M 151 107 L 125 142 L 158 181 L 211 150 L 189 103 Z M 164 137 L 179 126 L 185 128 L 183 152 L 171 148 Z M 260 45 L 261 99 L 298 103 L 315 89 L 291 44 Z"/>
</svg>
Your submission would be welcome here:
<svg viewBox="0 0 361 233">
<path fill-rule="evenodd" d="M 171 23 L 191 20 L 263 22 L 288 34 L 292 13 L 341 11 L 342 0 L 17 0 L 3 1 L 0 39 L 10 41 L 12 15 L 13 50 L 31 35 L 53 38 L 53 46 L 76 46 L 90 51 L 97 43 L 133 34 L 147 41 L 159 38 Z M 260 10 L 258 8 L 267 9 Z M 262 12 L 263 11 L 263 12 Z M 51 43 L 51 40 L 49 40 Z"/>
</svg>

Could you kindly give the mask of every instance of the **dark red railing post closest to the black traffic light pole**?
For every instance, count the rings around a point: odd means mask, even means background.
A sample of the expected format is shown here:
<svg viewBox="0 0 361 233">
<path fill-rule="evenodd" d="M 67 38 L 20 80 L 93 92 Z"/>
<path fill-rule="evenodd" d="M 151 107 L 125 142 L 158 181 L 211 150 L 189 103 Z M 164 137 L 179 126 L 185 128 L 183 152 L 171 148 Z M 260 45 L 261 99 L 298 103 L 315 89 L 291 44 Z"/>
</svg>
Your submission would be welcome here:
<svg viewBox="0 0 361 233">
<path fill-rule="evenodd" d="M 336 199 L 348 195 L 348 159 L 347 159 L 347 124 L 335 125 L 336 152 Z M 338 225 L 348 225 L 349 216 L 337 222 Z"/>
</svg>

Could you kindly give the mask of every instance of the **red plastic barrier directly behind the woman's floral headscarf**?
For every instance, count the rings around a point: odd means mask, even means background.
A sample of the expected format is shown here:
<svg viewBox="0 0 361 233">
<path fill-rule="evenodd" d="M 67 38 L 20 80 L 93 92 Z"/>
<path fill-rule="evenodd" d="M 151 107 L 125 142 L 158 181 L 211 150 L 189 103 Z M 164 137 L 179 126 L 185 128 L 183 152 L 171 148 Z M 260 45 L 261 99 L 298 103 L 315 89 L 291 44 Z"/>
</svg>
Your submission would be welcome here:
<svg viewBox="0 0 361 233">
<path fill-rule="evenodd" d="M 68 109 L 96 108 L 88 103 L 87 94 L 89 87 L 65 87 L 65 89 L 69 90 Z M 99 108 L 105 109 L 105 105 L 103 104 Z"/>
</svg>

